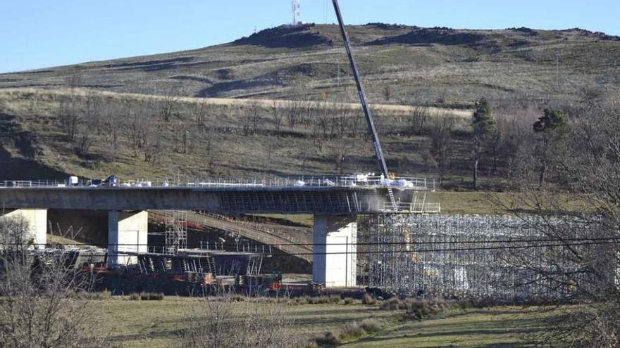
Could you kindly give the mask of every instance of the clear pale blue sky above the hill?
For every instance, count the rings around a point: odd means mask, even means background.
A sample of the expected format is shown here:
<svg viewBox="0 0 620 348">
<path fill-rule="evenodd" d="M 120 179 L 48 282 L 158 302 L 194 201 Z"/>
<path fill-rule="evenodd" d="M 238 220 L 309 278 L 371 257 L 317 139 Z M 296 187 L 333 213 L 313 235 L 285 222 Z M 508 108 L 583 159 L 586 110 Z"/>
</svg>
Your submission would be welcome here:
<svg viewBox="0 0 620 348">
<path fill-rule="evenodd" d="M 301 0 L 304 22 L 335 22 Z M 345 22 L 468 29 L 583 29 L 620 35 L 619 0 L 340 0 Z M 0 0 L 0 72 L 223 44 L 291 22 L 290 0 Z"/>
</svg>

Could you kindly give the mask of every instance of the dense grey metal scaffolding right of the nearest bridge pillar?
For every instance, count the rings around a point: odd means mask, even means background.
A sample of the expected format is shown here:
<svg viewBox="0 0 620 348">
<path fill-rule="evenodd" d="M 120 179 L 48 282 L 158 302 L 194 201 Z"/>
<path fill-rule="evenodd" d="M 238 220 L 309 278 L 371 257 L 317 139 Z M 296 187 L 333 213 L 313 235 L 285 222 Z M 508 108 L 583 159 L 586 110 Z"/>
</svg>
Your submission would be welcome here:
<svg viewBox="0 0 620 348">
<path fill-rule="evenodd" d="M 515 302 L 564 299 L 576 286 L 591 283 L 583 278 L 583 265 L 571 260 L 569 248 L 545 243 L 545 231 L 533 220 L 382 214 L 368 226 L 368 286 L 373 288 Z M 587 233 L 584 226 L 574 229 Z M 578 248 L 605 253 L 600 245 Z M 614 267 L 603 267 L 614 276 Z"/>
</svg>

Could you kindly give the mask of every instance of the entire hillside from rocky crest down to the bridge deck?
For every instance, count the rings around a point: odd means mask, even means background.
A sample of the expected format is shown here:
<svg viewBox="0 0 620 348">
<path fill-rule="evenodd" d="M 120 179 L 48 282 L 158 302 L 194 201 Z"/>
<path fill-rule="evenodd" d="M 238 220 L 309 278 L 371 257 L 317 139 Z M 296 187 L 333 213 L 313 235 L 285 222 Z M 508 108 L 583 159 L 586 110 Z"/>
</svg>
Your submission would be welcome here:
<svg viewBox="0 0 620 348">
<path fill-rule="evenodd" d="M 531 131 L 549 103 L 619 91 L 619 37 L 578 29 L 348 30 L 388 165 L 402 175 L 441 175 L 444 188 L 469 187 L 469 115 L 478 98 L 494 103 L 502 127 L 516 120 Z M 373 172 L 356 98 L 333 25 L 282 26 L 205 49 L 4 74 L 0 178 Z M 450 132 L 441 169 L 430 148 L 433 127 Z M 484 160 L 483 188 L 510 188 L 511 161 L 500 156 L 491 170 Z"/>
</svg>

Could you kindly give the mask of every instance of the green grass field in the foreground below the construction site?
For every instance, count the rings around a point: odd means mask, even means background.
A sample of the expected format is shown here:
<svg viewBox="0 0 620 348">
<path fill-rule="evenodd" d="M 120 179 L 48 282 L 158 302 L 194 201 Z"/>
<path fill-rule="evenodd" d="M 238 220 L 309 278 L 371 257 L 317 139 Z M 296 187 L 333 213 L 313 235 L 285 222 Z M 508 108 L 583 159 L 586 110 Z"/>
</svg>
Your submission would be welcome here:
<svg viewBox="0 0 620 348">
<path fill-rule="evenodd" d="M 163 301 L 121 299 L 97 302 L 101 333 L 122 342 L 122 347 L 180 347 L 178 330 L 197 299 L 166 297 Z M 241 308 L 242 304 L 235 303 Z M 397 321 L 398 311 L 383 311 L 362 304 L 303 304 L 287 307 L 297 333 L 306 337 L 335 330 L 365 318 L 389 324 L 379 333 L 343 342 L 343 347 L 531 347 L 526 334 L 544 327 L 541 321 L 557 311 L 492 307 L 450 311 L 423 321 Z"/>
</svg>

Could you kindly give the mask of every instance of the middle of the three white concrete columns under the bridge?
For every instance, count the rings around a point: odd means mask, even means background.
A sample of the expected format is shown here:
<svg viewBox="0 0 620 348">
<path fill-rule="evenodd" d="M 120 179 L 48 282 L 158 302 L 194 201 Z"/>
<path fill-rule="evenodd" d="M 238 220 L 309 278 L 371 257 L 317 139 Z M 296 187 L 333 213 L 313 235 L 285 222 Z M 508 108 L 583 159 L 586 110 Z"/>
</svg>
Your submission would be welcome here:
<svg viewBox="0 0 620 348">
<path fill-rule="evenodd" d="M 108 212 L 108 266 L 137 264 L 123 252 L 148 252 L 149 212 Z"/>
</svg>

